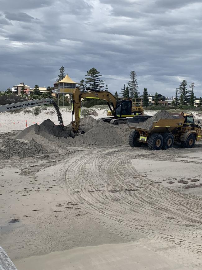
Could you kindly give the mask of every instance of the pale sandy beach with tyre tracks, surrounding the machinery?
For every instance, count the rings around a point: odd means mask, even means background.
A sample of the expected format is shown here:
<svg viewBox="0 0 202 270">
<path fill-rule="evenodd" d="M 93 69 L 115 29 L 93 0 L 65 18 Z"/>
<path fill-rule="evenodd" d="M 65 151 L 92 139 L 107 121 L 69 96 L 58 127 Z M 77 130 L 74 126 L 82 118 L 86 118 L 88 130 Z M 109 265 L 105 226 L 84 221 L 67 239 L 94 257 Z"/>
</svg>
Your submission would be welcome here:
<svg viewBox="0 0 202 270">
<path fill-rule="evenodd" d="M 127 125 L 93 118 L 79 139 L 58 138 L 20 132 L 20 114 L 12 131 L 13 114 L 0 116 L 0 244 L 18 270 L 201 269 L 200 141 L 131 148 Z"/>
</svg>

